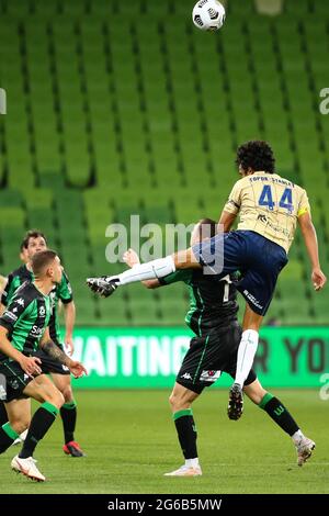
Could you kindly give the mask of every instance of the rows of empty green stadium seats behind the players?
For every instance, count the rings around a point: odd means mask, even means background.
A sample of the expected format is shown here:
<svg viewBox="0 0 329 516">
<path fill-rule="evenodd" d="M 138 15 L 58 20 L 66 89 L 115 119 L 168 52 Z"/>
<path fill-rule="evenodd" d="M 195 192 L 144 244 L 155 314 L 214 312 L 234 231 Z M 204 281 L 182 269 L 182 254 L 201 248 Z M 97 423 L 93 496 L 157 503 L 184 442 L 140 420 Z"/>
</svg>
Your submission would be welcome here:
<svg viewBox="0 0 329 516">
<path fill-rule="evenodd" d="M 131 285 L 112 302 L 84 278 L 124 269 L 106 260 L 105 229 L 131 214 L 162 228 L 217 220 L 235 149 L 251 138 L 271 142 L 279 171 L 307 189 L 328 272 L 328 2 L 286 0 L 271 18 L 228 0 L 216 34 L 193 27 L 188 0 L 0 3 L 2 273 L 37 226 L 60 251 L 79 324 L 182 324 L 183 285 Z M 268 321 L 324 324 L 328 304 L 297 234 Z"/>
</svg>

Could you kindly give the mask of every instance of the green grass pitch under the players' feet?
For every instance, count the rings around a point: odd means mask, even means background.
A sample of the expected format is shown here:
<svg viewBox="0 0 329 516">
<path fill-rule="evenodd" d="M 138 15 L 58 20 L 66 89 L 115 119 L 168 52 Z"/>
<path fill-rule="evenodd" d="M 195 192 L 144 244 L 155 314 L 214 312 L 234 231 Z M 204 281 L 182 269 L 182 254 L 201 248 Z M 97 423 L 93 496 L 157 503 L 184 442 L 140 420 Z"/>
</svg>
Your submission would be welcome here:
<svg viewBox="0 0 329 516">
<path fill-rule="evenodd" d="M 200 478 L 166 478 L 183 461 L 168 406 L 169 391 L 77 392 L 77 440 L 87 458 L 61 451 L 61 422 L 39 444 L 35 458 L 47 476 L 33 483 L 10 469 L 18 452 L 0 456 L 0 493 L 328 493 L 329 402 L 317 391 L 272 390 L 317 445 L 303 468 L 286 436 L 246 401 L 239 422 L 226 415 L 227 392 L 209 390 L 194 404 Z"/>
</svg>

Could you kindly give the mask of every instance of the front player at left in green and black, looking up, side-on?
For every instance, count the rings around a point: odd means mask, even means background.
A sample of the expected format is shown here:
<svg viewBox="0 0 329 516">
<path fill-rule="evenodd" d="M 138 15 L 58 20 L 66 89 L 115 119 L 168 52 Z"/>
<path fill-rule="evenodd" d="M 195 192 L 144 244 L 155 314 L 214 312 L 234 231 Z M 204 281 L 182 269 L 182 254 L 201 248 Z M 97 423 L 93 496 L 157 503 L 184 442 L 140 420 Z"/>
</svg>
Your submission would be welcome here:
<svg viewBox="0 0 329 516">
<path fill-rule="evenodd" d="M 60 283 L 63 274 L 58 256 L 52 250 L 36 253 L 31 266 L 34 280 L 24 282 L 16 290 L 0 317 L 0 385 L 9 417 L 9 422 L 0 427 L 0 453 L 29 425 L 26 399 L 33 397 L 41 402 L 42 406 L 32 417 L 23 448 L 13 458 L 11 467 L 33 480 L 44 481 L 45 476 L 36 468 L 33 452 L 54 423 L 64 397 L 42 373 L 41 359 L 34 352 L 42 346 L 45 355 L 64 364 L 76 377 L 80 377 L 86 369 L 80 362 L 71 360 L 49 337 L 49 293 L 55 284 Z"/>
</svg>

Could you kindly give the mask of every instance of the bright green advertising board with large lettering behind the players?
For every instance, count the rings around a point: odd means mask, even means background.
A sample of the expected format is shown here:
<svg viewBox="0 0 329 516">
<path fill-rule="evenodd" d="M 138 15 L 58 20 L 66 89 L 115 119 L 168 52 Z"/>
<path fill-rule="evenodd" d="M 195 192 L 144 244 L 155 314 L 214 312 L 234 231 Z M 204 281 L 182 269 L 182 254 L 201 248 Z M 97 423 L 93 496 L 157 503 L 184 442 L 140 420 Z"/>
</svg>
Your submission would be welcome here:
<svg viewBox="0 0 329 516">
<path fill-rule="evenodd" d="M 75 386 L 171 388 L 190 337 L 184 328 L 77 328 L 75 358 L 89 374 Z M 320 388 L 329 372 L 329 327 L 264 327 L 254 367 L 269 388 Z M 215 388 L 230 383 L 224 373 Z"/>
</svg>

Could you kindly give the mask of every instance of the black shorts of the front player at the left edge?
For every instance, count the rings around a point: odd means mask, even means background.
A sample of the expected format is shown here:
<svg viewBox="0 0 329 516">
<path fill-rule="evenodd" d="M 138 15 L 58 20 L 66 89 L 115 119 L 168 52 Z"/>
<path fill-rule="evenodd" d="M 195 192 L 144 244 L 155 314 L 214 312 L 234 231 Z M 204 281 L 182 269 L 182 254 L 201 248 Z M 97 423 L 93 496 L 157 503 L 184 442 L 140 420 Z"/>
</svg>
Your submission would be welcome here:
<svg viewBox="0 0 329 516">
<path fill-rule="evenodd" d="M 32 382 L 33 378 L 23 371 L 19 362 L 13 360 L 3 360 L 0 362 L 0 374 L 4 377 L 1 379 L 1 401 L 10 403 L 13 400 L 21 400 L 29 397 L 23 394 L 25 386 Z M 5 394 L 4 394 L 5 392 Z"/>
</svg>

